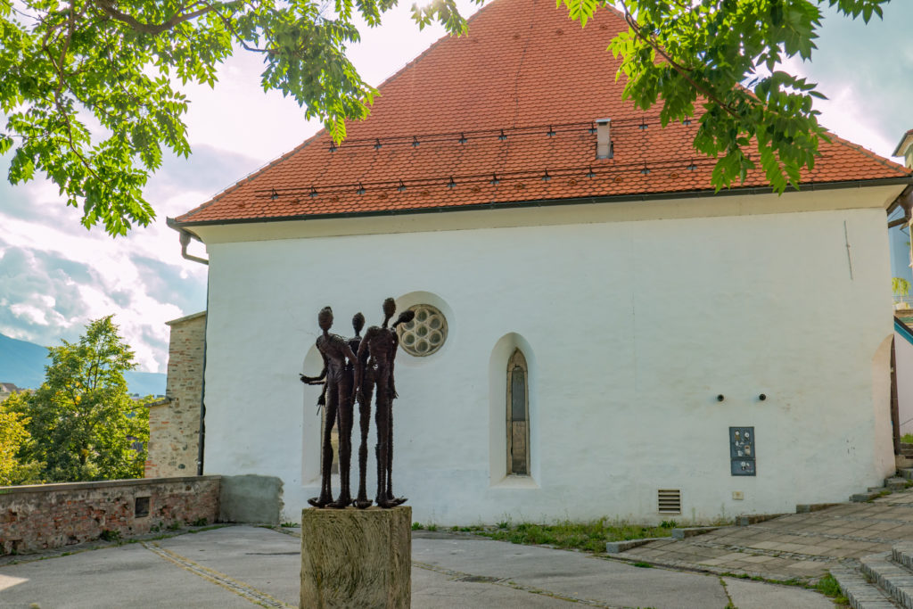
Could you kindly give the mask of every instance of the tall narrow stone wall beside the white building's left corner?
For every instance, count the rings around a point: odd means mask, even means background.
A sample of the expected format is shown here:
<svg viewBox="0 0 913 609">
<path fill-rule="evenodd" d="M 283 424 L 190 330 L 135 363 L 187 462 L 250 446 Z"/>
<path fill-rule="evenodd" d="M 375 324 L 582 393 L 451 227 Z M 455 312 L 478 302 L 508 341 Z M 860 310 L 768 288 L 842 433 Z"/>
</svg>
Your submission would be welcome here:
<svg viewBox="0 0 913 609">
<path fill-rule="evenodd" d="M 206 313 L 169 321 L 166 399 L 149 409 L 146 478 L 196 473 Z"/>
</svg>

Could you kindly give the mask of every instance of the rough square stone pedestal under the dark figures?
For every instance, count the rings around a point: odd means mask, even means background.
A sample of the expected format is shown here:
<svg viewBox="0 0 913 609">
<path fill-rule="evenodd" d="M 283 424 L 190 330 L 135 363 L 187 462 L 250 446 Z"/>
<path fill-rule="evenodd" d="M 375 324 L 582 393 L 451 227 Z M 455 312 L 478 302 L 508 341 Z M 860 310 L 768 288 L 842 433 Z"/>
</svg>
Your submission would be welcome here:
<svg viewBox="0 0 913 609">
<path fill-rule="evenodd" d="M 301 607 L 408 609 L 412 508 L 304 509 Z"/>
</svg>

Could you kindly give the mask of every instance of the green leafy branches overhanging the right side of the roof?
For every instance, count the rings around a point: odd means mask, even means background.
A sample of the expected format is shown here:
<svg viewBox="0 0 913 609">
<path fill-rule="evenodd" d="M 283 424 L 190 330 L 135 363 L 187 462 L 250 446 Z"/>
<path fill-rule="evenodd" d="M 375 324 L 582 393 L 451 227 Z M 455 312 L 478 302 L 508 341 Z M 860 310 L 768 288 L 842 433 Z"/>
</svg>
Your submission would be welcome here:
<svg viewBox="0 0 913 609">
<path fill-rule="evenodd" d="M 702 107 L 694 147 L 717 159 L 719 190 L 758 163 L 782 193 L 813 169 L 819 139 L 816 85 L 779 66 L 811 59 L 822 7 L 848 17 L 882 17 L 890 0 L 618 0 L 628 30 L 610 49 L 622 57 L 624 97 L 660 120 L 682 121 Z M 604 3 L 558 0 L 582 26 Z M 748 86 L 743 86 L 747 84 Z"/>
</svg>

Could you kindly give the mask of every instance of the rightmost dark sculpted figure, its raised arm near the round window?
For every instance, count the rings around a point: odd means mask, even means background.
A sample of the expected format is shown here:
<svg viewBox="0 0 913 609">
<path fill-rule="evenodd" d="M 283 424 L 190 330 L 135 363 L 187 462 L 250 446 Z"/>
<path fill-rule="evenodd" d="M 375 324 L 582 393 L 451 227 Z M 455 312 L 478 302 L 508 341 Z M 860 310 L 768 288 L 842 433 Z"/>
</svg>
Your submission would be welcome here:
<svg viewBox="0 0 913 609">
<path fill-rule="evenodd" d="M 406 501 L 404 497 L 395 497 L 393 493 L 393 463 L 394 463 L 394 417 L 393 401 L 396 395 L 394 383 L 394 358 L 396 348 L 399 346 L 399 337 L 396 326 L 407 323 L 415 318 L 415 311 L 407 310 L 402 313 L 388 328 L 390 318 L 396 312 L 394 299 L 383 301 L 383 325 L 378 328 L 372 326 L 364 333 L 364 339 L 358 349 L 360 365 L 364 366 L 362 375 L 373 377 L 376 385 L 374 424 L 377 428 L 377 496 L 374 502 L 381 508 L 394 508 Z M 370 400 L 370 395 L 360 399 Z"/>
</svg>

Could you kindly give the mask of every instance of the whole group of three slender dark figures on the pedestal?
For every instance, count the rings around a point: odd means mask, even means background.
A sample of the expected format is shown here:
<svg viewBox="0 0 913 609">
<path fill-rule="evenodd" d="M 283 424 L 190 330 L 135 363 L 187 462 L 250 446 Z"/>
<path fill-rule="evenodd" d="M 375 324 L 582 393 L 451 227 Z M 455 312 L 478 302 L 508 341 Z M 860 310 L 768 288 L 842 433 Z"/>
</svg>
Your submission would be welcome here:
<svg viewBox="0 0 913 609">
<path fill-rule="evenodd" d="M 322 434 L 320 470 L 320 497 L 308 499 L 315 508 L 345 509 L 353 504 L 365 509 L 371 505 L 365 489 L 368 465 L 368 431 L 371 426 L 371 398 L 376 392 L 374 423 L 377 431 L 377 495 L 374 502 L 381 508 L 394 508 L 405 502 L 404 497 L 394 497 L 394 419 L 393 402 L 396 397 L 394 384 L 394 357 L 399 346 L 396 326 L 412 321 L 415 311 L 401 313 L 393 326 L 387 327 L 396 312 L 394 299 L 383 301 L 383 325 L 372 326 L 361 336 L 364 316 L 357 313 L 352 318 L 355 336 L 346 341 L 338 334 L 331 334 L 333 311 L 330 307 L 320 310 L 317 320 L 323 333 L 317 339 L 317 349 L 323 358 L 320 376 L 301 374 L 301 382 L 324 385 L 318 405 L 326 408 Z M 352 418 L 354 402 L 358 401 L 362 443 L 358 449 L 358 497 L 350 495 L 349 472 L 352 465 Z M 333 449 L 330 436 L 333 423 L 339 430 L 340 494 L 334 501 L 330 484 Z"/>
</svg>

